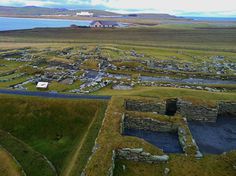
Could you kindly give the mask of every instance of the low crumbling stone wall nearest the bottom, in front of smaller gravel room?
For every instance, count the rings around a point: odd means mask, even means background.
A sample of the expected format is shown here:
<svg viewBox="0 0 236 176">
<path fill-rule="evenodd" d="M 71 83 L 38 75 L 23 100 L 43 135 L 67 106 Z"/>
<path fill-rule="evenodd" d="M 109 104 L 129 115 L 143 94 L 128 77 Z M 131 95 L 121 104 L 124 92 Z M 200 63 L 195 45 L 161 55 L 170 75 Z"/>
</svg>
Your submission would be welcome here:
<svg viewBox="0 0 236 176">
<path fill-rule="evenodd" d="M 168 155 L 151 155 L 150 153 L 145 152 L 142 148 L 117 149 L 116 158 L 146 163 L 160 163 L 169 160 Z"/>
</svg>

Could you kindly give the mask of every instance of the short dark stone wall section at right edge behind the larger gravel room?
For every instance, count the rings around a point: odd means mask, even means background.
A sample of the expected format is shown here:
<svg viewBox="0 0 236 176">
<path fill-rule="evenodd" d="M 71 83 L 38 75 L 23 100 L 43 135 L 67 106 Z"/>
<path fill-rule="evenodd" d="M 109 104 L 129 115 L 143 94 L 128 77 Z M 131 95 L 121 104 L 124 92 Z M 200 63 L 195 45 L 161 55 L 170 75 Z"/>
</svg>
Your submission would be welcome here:
<svg viewBox="0 0 236 176">
<path fill-rule="evenodd" d="M 219 102 L 218 115 L 236 117 L 236 102 Z"/>
</svg>

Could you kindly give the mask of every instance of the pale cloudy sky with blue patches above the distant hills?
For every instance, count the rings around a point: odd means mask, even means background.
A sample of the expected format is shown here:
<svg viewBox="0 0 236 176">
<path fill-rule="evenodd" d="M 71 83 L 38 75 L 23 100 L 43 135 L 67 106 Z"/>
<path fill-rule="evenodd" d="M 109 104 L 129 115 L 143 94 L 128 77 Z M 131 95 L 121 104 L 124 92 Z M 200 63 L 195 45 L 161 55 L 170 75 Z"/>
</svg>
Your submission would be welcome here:
<svg viewBox="0 0 236 176">
<path fill-rule="evenodd" d="M 2 6 L 98 9 L 119 13 L 236 17 L 236 0 L 0 0 Z"/>
</svg>

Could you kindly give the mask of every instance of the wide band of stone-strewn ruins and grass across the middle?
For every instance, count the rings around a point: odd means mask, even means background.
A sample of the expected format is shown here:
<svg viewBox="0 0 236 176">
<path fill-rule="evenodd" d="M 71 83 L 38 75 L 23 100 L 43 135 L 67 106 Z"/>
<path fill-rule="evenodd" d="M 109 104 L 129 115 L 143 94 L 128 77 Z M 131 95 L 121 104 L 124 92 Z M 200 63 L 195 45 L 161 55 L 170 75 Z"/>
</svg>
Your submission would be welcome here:
<svg viewBox="0 0 236 176">
<path fill-rule="evenodd" d="M 160 59 L 158 54 L 86 45 L 7 49 L 0 51 L 0 84 L 5 88 L 35 90 L 37 82 L 44 81 L 51 84 L 51 91 L 82 94 L 110 84 L 117 90 L 142 85 L 206 91 L 227 91 L 227 86 L 212 85 L 236 84 L 234 56 L 200 57 L 180 50 Z M 205 61 L 198 62 L 201 59 Z"/>
</svg>

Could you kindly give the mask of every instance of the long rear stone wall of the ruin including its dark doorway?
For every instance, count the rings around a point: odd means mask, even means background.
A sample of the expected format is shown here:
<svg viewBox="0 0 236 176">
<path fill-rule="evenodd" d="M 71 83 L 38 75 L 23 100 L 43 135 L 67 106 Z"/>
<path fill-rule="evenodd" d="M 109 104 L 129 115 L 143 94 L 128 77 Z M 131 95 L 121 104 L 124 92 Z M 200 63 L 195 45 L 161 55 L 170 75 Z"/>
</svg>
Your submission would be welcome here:
<svg viewBox="0 0 236 176">
<path fill-rule="evenodd" d="M 166 101 L 126 100 L 127 111 L 153 112 L 174 116 L 176 113 L 188 121 L 216 122 L 218 116 L 236 116 L 236 102 L 220 101 L 215 106 L 195 104 L 188 100 L 171 98 Z"/>
</svg>

